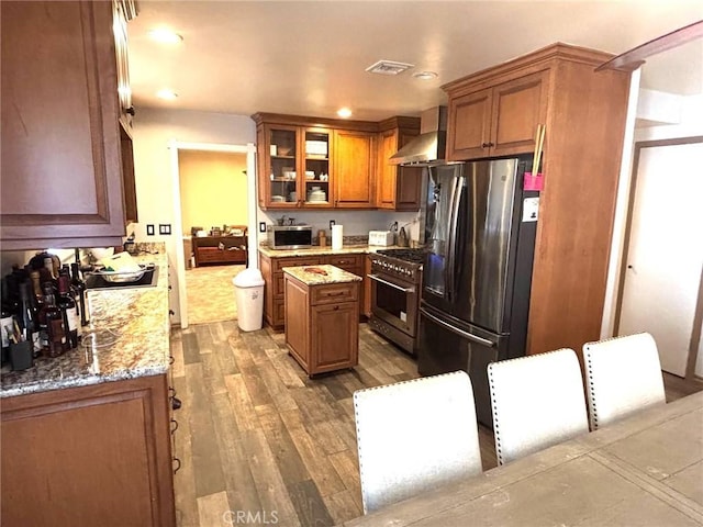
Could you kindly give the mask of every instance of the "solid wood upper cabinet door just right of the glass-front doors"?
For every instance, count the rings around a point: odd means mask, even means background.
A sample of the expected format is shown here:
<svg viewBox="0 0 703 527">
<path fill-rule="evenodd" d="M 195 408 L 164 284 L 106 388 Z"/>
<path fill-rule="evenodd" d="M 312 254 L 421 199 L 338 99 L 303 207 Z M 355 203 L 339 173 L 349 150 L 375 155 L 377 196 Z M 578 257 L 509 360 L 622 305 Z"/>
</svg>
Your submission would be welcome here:
<svg viewBox="0 0 703 527">
<path fill-rule="evenodd" d="M 376 134 L 353 130 L 334 132 L 334 206 L 373 208 Z"/>
</svg>

